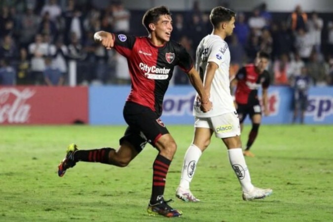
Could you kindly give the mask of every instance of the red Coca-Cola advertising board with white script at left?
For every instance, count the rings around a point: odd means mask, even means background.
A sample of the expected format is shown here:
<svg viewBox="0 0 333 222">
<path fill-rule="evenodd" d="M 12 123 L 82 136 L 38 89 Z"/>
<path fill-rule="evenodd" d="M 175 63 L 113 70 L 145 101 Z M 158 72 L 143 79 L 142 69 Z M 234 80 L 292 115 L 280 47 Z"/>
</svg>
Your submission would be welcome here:
<svg viewBox="0 0 333 222">
<path fill-rule="evenodd" d="M 88 123 L 88 87 L 0 87 L 0 124 Z"/>
</svg>

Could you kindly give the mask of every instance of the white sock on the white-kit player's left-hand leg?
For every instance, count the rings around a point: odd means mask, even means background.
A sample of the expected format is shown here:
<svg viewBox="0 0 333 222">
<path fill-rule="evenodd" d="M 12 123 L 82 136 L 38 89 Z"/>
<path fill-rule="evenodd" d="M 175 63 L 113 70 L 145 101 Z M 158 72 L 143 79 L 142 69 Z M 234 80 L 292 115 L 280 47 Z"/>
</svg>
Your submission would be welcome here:
<svg viewBox="0 0 333 222">
<path fill-rule="evenodd" d="M 201 149 L 193 144 L 187 148 L 184 156 L 181 183 L 179 184 L 182 188 L 189 189 L 189 183 L 192 181 L 201 153 Z"/>
</svg>

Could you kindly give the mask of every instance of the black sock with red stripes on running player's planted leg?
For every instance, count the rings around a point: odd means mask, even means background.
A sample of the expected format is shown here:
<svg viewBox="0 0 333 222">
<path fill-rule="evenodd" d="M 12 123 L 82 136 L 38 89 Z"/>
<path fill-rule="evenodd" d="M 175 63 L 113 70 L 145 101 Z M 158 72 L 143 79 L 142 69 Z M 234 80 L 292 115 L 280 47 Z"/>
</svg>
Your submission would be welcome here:
<svg viewBox="0 0 333 222">
<path fill-rule="evenodd" d="M 166 175 L 169 170 L 171 160 L 158 154 L 152 165 L 153 179 L 150 204 L 155 204 L 163 199 Z"/>
</svg>

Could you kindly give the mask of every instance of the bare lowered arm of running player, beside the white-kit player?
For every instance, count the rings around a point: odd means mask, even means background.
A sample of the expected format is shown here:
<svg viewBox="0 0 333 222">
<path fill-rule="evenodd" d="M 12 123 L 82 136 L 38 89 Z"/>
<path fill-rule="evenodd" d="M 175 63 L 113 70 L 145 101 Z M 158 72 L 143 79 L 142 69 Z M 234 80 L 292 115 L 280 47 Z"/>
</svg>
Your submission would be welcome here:
<svg viewBox="0 0 333 222">
<path fill-rule="evenodd" d="M 189 80 L 197 93 L 201 98 L 201 110 L 204 112 L 208 112 L 212 109 L 212 102 L 209 101 L 209 97 L 204 90 L 203 83 L 199 77 L 198 72 L 192 67 L 192 69 L 187 73 Z"/>
</svg>

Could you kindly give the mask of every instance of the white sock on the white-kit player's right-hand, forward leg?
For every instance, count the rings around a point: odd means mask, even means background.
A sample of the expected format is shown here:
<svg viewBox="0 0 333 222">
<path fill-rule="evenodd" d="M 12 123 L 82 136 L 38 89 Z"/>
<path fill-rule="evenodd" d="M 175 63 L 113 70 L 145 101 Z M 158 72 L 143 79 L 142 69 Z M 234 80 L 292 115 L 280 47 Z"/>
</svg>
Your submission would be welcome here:
<svg viewBox="0 0 333 222">
<path fill-rule="evenodd" d="M 250 172 L 246 165 L 242 148 L 228 149 L 229 161 L 234 170 L 243 191 L 248 192 L 253 189 Z"/>
</svg>

